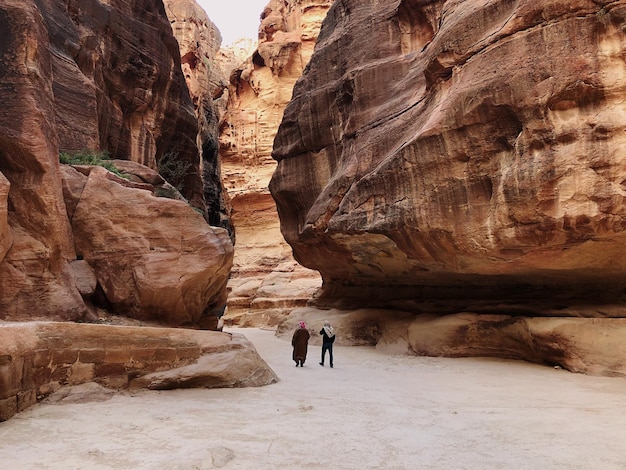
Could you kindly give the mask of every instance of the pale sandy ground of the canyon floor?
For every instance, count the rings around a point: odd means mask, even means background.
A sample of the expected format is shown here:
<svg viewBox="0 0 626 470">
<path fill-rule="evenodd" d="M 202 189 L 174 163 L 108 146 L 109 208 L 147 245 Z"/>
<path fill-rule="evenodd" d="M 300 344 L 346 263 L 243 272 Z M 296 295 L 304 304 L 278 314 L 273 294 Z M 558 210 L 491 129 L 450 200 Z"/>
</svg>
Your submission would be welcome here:
<svg viewBox="0 0 626 470">
<path fill-rule="evenodd" d="M 624 469 L 626 380 L 522 362 L 385 356 L 245 334 L 261 388 L 42 403 L 0 423 L 1 469 Z"/>
</svg>

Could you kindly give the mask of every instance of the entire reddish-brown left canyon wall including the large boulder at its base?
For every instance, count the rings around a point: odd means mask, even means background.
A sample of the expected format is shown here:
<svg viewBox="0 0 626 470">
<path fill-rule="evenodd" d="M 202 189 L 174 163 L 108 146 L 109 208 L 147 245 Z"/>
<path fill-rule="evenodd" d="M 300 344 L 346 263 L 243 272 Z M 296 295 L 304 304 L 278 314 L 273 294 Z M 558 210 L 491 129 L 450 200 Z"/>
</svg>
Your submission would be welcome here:
<svg viewBox="0 0 626 470">
<path fill-rule="evenodd" d="M 214 317 L 227 234 L 154 197 L 165 182 L 139 165 L 184 168 L 171 183 L 204 211 L 197 119 L 162 3 L 6 0 L 0 19 L 0 318 L 81 320 L 91 304 L 173 325 Z M 82 149 L 138 163 L 135 181 L 62 173 L 59 151 Z"/>
</svg>

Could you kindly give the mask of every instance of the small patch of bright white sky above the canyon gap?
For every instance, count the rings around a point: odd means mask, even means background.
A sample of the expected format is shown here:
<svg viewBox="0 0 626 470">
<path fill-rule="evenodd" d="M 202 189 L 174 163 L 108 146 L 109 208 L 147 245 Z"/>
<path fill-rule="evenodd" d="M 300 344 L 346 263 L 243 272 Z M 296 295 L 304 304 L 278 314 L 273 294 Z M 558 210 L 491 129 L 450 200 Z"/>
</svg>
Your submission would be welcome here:
<svg viewBox="0 0 626 470">
<path fill-rule="evenodd" d="M 269 0 L 196 0 L 222 33 L 222 46 L 240 38 L 257 39 L 261 13 Z"/>
</svg>

